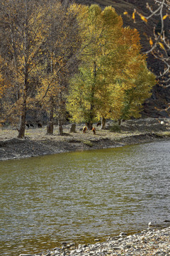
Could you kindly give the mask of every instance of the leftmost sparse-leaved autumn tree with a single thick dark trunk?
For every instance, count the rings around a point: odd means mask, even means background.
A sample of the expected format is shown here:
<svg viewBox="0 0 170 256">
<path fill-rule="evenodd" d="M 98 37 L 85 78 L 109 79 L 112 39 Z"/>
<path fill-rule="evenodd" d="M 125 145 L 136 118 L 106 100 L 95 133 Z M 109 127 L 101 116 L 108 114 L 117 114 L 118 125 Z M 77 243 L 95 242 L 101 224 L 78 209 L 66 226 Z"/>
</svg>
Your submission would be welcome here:
<svg viewBox="0 0 170 256">
<path fill-rule="evenodd" d="M 43 59 L 47 39 L 45 1 L 2 0 L 0 8 L 1 48 L 4 76 L 13 87 L 6 102 L 6 116 L 20 119 L 18 137 L 25 134 L 26 112 L 29 99 L 35 95 L 38 65 Z"/>
</svg>

